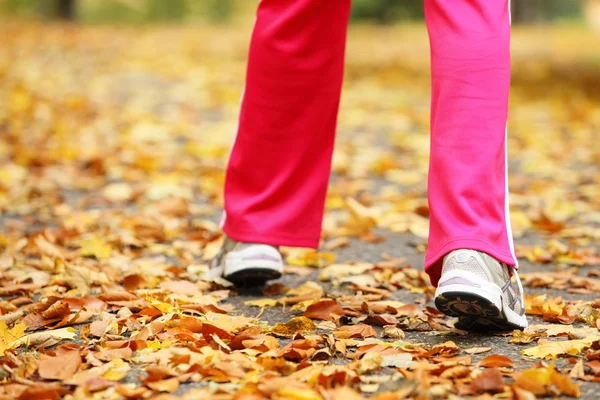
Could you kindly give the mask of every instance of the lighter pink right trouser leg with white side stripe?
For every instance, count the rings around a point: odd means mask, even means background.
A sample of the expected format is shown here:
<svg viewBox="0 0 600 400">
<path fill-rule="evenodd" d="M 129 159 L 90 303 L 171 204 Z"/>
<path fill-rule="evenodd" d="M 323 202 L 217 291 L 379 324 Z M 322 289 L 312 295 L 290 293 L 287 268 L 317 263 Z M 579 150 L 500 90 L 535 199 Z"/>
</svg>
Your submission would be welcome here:
<svg viewBox="0 0 600 400">
<path fill-rule="evenodd" d="M 425 0 L 431 41 L 429 246 L 437 285 L 443 257 L 474 249 L 516 265 L 506 172 L 509 0 Z"/>
</svg>

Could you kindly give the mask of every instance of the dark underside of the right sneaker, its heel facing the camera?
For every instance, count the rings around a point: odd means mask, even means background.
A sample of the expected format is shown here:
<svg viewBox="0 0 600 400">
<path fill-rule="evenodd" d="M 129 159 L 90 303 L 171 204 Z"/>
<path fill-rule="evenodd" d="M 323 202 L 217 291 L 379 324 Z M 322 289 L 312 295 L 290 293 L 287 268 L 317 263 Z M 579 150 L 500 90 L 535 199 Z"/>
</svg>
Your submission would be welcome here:
<svg viewBox="0 0 600 400">
<path fill-rule="evenodd" d="M 449 291 L 435 298 L 438 310 L 450 317 L 458 317 L 456 328 L 472 332 L 523 330 L 522 326 L 508 321 L 496 304 L 477 294 Z"/>
</svg>

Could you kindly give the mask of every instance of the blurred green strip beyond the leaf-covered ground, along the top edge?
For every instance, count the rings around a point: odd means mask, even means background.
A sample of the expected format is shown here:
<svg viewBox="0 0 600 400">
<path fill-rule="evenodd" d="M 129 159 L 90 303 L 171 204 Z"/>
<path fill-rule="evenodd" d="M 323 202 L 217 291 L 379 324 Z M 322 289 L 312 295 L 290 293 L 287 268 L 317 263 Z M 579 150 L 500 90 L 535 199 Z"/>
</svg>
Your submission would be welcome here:
<svg viewBox="0 0 600 400">
<path fill-rule="evenodd" d="M 252 14 L 252 0 L 2 0 L 6 14 L 82 22 L 229 21 Z M 354 21 L 394 23 L 423 18 L 417 0 L 354 0 Z M 598 23 L 596 0 L 513 1 L 515 22 L 577 21 Z"/>
</svg>

